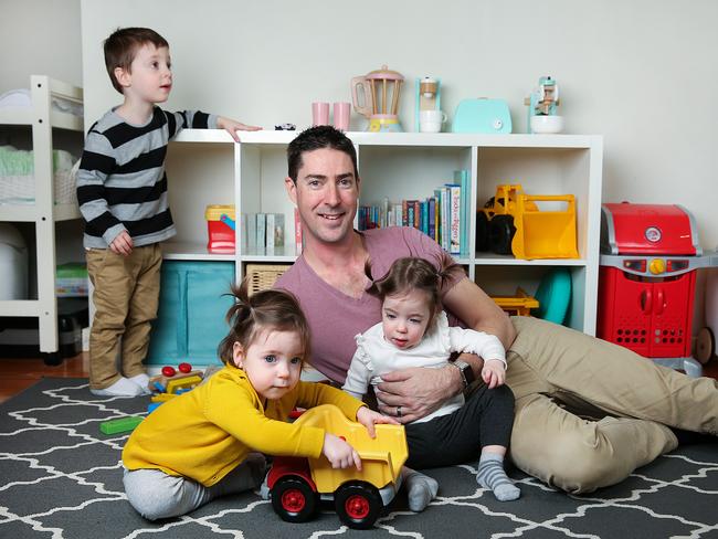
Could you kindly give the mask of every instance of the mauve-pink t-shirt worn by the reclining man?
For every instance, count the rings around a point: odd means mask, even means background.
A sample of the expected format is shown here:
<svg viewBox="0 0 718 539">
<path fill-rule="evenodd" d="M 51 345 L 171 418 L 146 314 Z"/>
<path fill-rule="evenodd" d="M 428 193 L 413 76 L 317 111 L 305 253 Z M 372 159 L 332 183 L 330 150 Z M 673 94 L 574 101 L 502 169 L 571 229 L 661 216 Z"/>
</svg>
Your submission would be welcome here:
<svg viewBox="0 0 718 539">
<path fill-rule="evenodd" d="M 374 278 L 386 275 L 397 258 L 419 256 L 439 267 L 448 256 L 434 240 L 416 229 L 389 226 L 361 234 Z M 448 283 L 442 295 L 455 283 Z M 337 290 L 309 267 L 304 256 L 296 260 L 274 287 L 289 290 L 299 299 L 312 329 L 312 366 L 330 380 L 344 383 L 357 349 L 355 336 L 381 321 L 379 299 L 366 293 L 357 299 Z M 451 314 L 450 323 L 456 325 Z"/>
</svg>

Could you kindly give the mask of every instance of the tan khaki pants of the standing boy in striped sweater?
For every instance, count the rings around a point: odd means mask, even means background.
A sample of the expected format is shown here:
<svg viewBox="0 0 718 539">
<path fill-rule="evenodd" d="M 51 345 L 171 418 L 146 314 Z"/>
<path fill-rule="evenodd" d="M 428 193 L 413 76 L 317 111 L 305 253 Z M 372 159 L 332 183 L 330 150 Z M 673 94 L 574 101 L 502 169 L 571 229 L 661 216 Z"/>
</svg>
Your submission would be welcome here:
<svg viewBox="0 0 718 539">
<path fill-rule="evenodd" d="M 96 309 L 89 332 L 89 388 L 105 389 L 122 374 L 130 378 L 145 372 L 162 253 L 159 244 L 152 244 L 135 247 L 128 256 L 109 249 L 91 249 L 86 256 Z"/>
</svg>

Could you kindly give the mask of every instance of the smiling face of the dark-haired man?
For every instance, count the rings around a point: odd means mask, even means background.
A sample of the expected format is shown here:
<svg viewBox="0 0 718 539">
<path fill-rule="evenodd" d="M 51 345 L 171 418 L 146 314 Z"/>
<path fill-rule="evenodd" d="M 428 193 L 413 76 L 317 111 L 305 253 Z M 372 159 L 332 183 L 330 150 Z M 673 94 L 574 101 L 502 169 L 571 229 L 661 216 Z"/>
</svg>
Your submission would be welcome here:
<svg viewBox="0 0 718 539">
<path fill-rule="evenodd" d="M 305 240 L 338 243 L 350 236 L 359 198 L 359 179 L 344 151 L 321 148 L 302 156 L 297 181 L 285 187 L 302 216 Z"/>
</svg>

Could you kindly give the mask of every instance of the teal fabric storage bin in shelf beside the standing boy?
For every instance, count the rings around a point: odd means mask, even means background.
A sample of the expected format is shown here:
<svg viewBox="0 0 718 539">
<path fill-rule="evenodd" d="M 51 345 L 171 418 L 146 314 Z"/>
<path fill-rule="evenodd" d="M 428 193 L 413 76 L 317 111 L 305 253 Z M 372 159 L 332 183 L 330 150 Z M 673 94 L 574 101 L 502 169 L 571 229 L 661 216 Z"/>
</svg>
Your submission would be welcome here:
<svg viewBox="0 0 718 539">
<path fill-rule="evenodd" d="M 233 297 L 233 262 L 162 263 L 157 320 L 147 364 L 220 363 L 217 347 L 226 336 L 224 321 Z"/>
</svg>

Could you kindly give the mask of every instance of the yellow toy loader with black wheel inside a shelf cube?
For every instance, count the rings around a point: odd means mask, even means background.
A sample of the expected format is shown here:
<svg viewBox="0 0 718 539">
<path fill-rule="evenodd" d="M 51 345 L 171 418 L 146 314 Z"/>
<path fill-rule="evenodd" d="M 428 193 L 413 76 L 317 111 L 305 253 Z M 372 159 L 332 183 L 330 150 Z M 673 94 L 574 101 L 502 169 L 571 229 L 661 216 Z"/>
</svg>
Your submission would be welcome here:
<svg viewBox="0 0 718 539">
<path fill-rule="evenodd" d="M 540 211 L 536 202 L 564 210 Z M 573 194 L 526 194 L 520 184 L 501 184 L 476 214 L 476 250 L 517 258 L 578 258 Z"/>
</svg>

